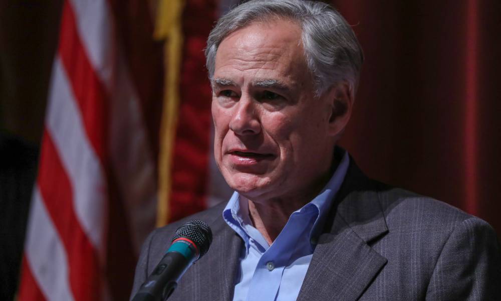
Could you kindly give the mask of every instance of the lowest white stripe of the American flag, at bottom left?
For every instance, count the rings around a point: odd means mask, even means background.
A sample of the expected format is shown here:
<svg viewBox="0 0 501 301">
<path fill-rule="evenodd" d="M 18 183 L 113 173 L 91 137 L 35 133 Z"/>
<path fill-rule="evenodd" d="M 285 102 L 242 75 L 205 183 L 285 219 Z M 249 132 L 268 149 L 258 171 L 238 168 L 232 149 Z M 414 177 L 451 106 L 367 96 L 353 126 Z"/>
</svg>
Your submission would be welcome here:
<svg viewBox="0 0 501 301">
<path fill-rule="evenodd" d="M 68 258 L 37 185 L 33 189 L 26 238 L 27 264 L 45 298 L 72 301 Z"/>
</svg>

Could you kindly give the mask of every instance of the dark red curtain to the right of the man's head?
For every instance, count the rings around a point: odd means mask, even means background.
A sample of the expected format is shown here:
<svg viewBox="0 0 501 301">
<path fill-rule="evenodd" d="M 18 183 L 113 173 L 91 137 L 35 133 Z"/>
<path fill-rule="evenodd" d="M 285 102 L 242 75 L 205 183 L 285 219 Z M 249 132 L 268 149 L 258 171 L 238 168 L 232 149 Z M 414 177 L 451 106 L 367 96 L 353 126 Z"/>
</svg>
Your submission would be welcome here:
<svg viewBox="0 0 501 301">
<path fill-rule="evenodd" d="M 366 59 L 341 144 L 370 177 L 479 216 L 499 236 L 501 2 L 333 4 Z"/>
</svg>

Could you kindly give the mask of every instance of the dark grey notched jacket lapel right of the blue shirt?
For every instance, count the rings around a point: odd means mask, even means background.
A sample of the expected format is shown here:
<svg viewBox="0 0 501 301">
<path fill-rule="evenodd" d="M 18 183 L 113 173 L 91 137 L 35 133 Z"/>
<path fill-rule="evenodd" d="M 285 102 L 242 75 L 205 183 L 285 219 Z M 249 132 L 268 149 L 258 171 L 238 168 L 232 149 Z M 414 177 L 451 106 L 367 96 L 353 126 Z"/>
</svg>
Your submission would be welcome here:
<svg viewBox="0 0 501 301">
<path fill-rule="evenodd" d="M 356 300 L 386 264 L 370 247 L 388 232 L 377 191 L 351 159 L 298 300 Z"/>
</svg>

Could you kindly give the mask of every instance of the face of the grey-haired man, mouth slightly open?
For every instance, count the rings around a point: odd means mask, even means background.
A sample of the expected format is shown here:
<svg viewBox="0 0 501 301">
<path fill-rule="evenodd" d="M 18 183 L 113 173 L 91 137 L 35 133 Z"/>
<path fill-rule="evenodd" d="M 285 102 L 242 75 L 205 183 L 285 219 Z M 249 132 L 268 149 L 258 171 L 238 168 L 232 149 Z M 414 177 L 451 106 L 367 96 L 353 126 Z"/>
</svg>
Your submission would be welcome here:
<svg viewBox="0 0 501 301">
<path fill-rule="evenodd" d="M 258 202 L 310 196 L 332 162 L 332 101 L 314 98 L 300 27 L 253 23 L 227 36 L 212 86 L 214 155 L 228 185 Z"/>
</svg>

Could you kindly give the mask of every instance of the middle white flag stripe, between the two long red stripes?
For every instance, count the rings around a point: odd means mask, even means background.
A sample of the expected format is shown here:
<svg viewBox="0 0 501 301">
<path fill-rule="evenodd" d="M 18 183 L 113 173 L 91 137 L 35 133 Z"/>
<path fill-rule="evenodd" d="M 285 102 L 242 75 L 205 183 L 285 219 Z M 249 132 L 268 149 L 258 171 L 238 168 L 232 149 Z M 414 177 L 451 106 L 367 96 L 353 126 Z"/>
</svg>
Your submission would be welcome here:
<svg viewBox="0 0 501 301">
<path fill-rule="evenodd" d="M 46 126 L 72 184 L 78 222 L 99 252 L 100 263 L 104 264 L 104 229 L 108 205 L 104 171 L 86 136 L 75 96 L 59 56 L 54 59 Z"/>
</svg>

